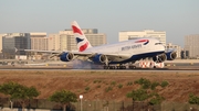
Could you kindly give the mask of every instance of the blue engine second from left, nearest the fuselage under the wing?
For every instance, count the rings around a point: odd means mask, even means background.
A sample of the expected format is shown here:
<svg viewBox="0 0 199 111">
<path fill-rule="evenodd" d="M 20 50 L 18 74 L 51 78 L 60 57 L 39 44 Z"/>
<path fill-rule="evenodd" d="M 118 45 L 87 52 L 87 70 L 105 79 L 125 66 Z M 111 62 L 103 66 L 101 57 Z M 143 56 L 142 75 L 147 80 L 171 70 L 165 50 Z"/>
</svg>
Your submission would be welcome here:
<svg viewBox="0 0 199 111">
<path fill-rule="evenodd" d="M 106 62 L 106 59 L 107 59 L 107 57 L 103 54 L 97 54 L 93 57 L 93 62 L 96 64 L 103 64 Z"/>
</svg>

